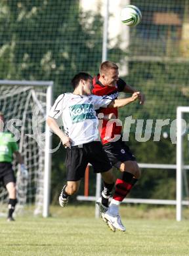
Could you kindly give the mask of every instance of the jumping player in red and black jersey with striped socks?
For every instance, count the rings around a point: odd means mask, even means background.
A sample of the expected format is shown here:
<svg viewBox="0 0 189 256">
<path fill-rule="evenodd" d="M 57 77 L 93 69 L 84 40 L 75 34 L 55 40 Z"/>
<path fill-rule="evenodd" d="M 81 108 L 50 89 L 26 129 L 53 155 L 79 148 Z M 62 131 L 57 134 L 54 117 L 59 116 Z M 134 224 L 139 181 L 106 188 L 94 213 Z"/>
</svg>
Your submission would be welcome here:
<svg viewBox="0 0 189 256">
<path fill-rule="evenodd" d="M 135 89 L 127 85 L 125 81 L 119 78 L 118 66 L 114 62 L 106 61 L 100 65 L 100 74 L 93 78 L 93 93 L 95 95 L 107 95 L 112 99 L 116 99 L 119 92 L 134 93 Z M 144 103 L 144 95 L 138 95 L 140 104 Z M 121 223 L 119 217 L 119 203 L 123 201 L 125 196 L 131 191 L 134 184 L 140 177 L 140 169 L 138 167 L 135 156 L 129 150 L 129 147 L 121 139 L 121 125 L 117 122 L 117 108 L 100 108 L 98 116 L 103 118 L 100 125 L 100 137 L 103 148 L 108 155 L 112 165 L 121 171 L 120 179 L 116 181 L 115 193 L 108 207 L 108 198 L 110 198 L 114 184 L 105 184 L 102 191 L 101 209 L 106 211 L 102 213 L 102 219 L 105 221 L 118 222 L 119 230 L 125 231 L 125 227 Z M 110 121 L 110 119 L 114 119 Z M 97 202 L 99 203 L 99 202 Z M 119 217 L 117 220 L 117 216 Z M 116 227 L 117 228 L 117 227 Z"/>
</svg>

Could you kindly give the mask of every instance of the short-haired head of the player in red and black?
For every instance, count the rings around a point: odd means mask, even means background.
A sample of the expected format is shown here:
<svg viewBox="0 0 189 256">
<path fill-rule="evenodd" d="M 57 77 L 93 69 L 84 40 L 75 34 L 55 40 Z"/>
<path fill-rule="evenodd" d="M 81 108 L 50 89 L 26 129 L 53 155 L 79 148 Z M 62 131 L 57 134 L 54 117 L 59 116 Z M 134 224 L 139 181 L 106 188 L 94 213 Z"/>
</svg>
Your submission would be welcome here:
<svg viewBox="0 0 189 256">
<path fill-rule="evenodd" d="M 100 81 L 103 85 L 115 86 L 118 80 L 118 66 L 111 61 L 104 61 L 100 65 Z"/>
</svg>

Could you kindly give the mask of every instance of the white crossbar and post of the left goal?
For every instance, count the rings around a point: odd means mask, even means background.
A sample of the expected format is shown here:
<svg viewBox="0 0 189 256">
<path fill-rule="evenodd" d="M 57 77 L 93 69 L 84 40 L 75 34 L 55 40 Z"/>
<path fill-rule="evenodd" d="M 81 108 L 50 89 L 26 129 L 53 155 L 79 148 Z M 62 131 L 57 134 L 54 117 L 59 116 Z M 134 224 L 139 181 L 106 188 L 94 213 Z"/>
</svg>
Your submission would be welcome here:
<svg viewBox="0 0 189 256">
<path fill-rule="evenodd" d="M 53 81 L 19 81 L 19 80 L 0 80 L 0 85 L 20 85 L 20 86 L 32 86 L 32 87 L 46 87 L 46 116 L 49 112 L 53 102 Z M 44 177 L 43 177 L 43 217 L 49 216 L 49 202 L 50 202 L 50 179 L 51 179 L 51 148 L 52 136 L 47 123 L 45 124 L 45 165 L 44 165 Z"/>
</svg>

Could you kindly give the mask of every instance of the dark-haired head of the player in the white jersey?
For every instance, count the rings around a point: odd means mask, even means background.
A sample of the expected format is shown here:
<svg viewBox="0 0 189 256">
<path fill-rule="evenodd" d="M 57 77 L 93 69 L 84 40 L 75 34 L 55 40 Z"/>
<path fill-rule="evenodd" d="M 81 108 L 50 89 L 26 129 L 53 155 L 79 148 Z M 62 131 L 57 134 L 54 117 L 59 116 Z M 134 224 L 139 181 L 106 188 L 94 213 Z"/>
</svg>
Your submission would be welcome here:
<svg viewBox="0 0 189 256">
<path fill-rule="evenodd" d="M 91 75 L 85 72 L 80 72 L 77 75 L 74 75 L 72 86 L 74 87 L 74 90 L 81 88 L 86 95 L 91 95 L 93 89 L 92 80 L 93 77 Z"/>
</svg>

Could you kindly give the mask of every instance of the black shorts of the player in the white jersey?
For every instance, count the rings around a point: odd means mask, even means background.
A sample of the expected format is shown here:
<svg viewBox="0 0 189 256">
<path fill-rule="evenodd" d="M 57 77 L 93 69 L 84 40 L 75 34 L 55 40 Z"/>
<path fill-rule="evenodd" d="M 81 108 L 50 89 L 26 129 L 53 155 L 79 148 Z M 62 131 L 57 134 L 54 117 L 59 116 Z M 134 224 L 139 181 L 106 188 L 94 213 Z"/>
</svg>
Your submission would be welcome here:
<svg viewBox="0 0 189 256">
<path fill-rule="evenodd" d="M 66 148 L 67 181 L 80 181 L 85 169 L 91 163 L 95 173 L 104 173 L 112 168 L 108 156 L 99 141 L 83 144 L 83 147 Z"/>
</svg>

